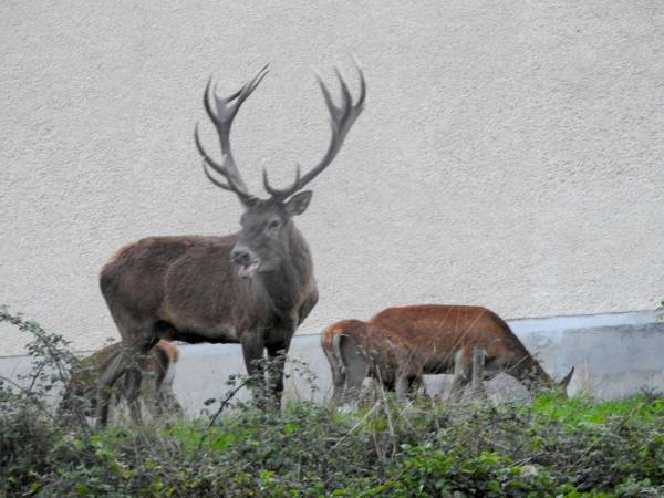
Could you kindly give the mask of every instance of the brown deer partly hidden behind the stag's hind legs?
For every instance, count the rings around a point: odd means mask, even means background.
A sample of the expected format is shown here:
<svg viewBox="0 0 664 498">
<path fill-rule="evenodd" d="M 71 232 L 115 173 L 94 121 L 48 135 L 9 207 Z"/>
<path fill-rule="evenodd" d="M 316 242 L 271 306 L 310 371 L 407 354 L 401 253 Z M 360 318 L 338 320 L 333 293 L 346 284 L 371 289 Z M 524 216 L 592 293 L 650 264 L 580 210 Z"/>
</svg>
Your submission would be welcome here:
<svg viewBox="0 0 664 498">
<path fill-rule="evenodd" d="M 110 344 L 81 360 L 80 367 L 72 372 L 69 386 L 60 403 L 61 411 L 75 409 L 83 402 L 84 414 L 94 416 L 97 402 L 97 378 L 104 367 L 121 352 L 121 343 Z M 151 377 L 147 406 L 157 417 L 164 412 L 181 414 L 183 409 L 173 394 L 174 365 L 179 359 L 178 349 L 168 341 L 159 341 L 149 350 L 146 359 L 146 372 Z M 123 393 L 126 392 L 123 390 Z"/>
</svg>

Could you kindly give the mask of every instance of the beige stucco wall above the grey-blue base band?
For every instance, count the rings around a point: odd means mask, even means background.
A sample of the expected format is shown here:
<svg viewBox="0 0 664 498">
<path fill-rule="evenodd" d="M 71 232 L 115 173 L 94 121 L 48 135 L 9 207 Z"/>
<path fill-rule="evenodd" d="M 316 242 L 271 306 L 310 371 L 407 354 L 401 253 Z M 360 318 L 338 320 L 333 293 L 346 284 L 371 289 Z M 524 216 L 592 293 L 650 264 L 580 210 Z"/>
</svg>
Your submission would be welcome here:
<svg viewBox="0 0 664 498">
<path fill-rule="evenodd" d="M 369 101 L 298 221 L 321 291 L 301 333 L 388 304 L 663 297 L 660 0 L 31 0 L 0 4 L 0 303 L 80 349 L 115 336 L 97 272 L 116 248 L 238 225 L 191 139 L 210 72 L 231 91 L 272 63 L 234 131 L 258 190 L 324 151 L 310 65 L 353 77 L 347 53 Z"/>
</svg>

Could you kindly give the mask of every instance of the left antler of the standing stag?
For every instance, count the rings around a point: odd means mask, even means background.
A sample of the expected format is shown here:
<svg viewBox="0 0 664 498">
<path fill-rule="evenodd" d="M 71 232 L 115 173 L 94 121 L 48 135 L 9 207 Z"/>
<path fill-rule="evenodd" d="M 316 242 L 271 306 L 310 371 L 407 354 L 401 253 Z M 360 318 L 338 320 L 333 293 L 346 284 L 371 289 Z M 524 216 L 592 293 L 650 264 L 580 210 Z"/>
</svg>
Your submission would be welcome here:
<svg viewBox="0 0 664 498">
<path fill-rule="evenodd" d="M 268 74 L 268 65 L 269 64 L 263 65 L 251 81 L 246 83 L 240 90 L 229 97 L 219 97 L 217 95 L 217 87 L 215 85 L 215 89 L 212 90 L 212 96 L 215 97 L 215 104 L 217 108 L 216 113 L 212 111 L 210 105 L 211 77 L 205 87 L 205 93 L 203 94 L 203 105 L 205 106 L 207 115 L 215 124 L 217 134 L 219 135 L 219 144 L 221 146 L 222 154 L 221 163 L 217 163 L 215 159 L 212 159 L 212 157 L 203 147 L 200 137 L 198 136 L 198 123 L 196 123 L 196 128 L 194 131 L 194 139 L 196 141 L 196 147 L 198 148 L 199 154 L 203 156 L 203 169 L 205 170 L 206 176 L 216 186 L 226 190 L 235 191 L 243 204 L 253 198 L 253 196 L 249 194 L 247 185 L 242 180 L 236 162 L 232 158 L 232 153 L 230 149 L 230 127 L 242 103 L 249 95 L 251 95 L 262 79 Z M 224 176 L 227 183 L 215 178 L 210 174 L 208 166 Z"/>
</svg>

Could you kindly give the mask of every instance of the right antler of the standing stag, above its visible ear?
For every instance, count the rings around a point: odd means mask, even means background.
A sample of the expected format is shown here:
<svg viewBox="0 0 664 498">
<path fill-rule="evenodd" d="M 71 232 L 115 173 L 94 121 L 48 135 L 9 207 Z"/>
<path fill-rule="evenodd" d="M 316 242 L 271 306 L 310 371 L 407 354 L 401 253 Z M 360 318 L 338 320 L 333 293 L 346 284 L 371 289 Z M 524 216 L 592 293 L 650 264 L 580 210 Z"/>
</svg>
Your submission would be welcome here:
<svg viewBox="0 0 664 498">
<path fill-rule="evenodd" d="M 366 84 L 364 82 L 364 75 L 362 74 L 362 69 L 356 61 L 355 66 L 357 68 L 357 72 L 360 73 L 360 97 L 357 102 L 353 104 L 353 97 L 351 96 L 351 92 L 349 91 L 349 86 L 346 85 L 343 76 L 335 68 L 334 72 L 336 73 L 336 77 L 339 79 L 339 84 L 341 86 L 341 106 L 336 107 L 334 105 L 334 101 L 332 101 L 332 96 L 330 95 L 330 90 L 323 83 L 321 76 L 317 73 L 315 77 L 321 85 L 321 91 L 323 92 L 323 96 L 325 98 L 325 104 L 328 105 L 328 110 L 330 111 L 330 125 L 332 127 L 332 139 L 330 141 L 330 146 L 328 147 L 328 152 L 323 156 L 322 160 L 308 174 L 304 176 L 300 176 L 300 166 L 298 165 L 295 172 L 295 181 L 290 187 L 284 189 L 273 188 L 270 185 L 268 179 L 268 172 L 263 169 L 263 185 L 268 194 L 278 199 L 286 199 L 292 196 L 298 190 L 302 189 L 309 181 L 318 176 L 323 169 L 325 169 L 330 163 L 334 159 L 343 141 L 355 123 L 355 120 L 362 112 L 364 106 L 364 97 L 366 96 Z"/>
</svg>

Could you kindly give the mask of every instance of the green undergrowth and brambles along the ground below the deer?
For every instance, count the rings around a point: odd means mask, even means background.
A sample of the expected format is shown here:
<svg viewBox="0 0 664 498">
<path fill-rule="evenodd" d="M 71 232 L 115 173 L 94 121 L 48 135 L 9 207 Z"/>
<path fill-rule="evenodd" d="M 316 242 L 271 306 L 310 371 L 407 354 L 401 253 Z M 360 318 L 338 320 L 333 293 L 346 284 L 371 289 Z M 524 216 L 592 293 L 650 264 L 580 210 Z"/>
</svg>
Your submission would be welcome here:
<svg viewBox="0 0 664 498">
<path fill-rule="evenodd" d="M 95 432 L 53 416 L 52 391 L 0 386 L 0 496 L 664 496 L 664 397 L 654 393 L 598 402 L 542 392 L 499 406 L 404 405 L 381 393 L 351 412 L 234 402 L 212 425 Z"/>
</svg>

